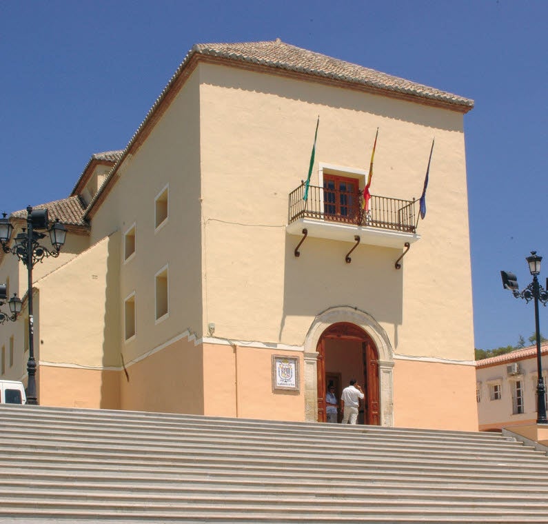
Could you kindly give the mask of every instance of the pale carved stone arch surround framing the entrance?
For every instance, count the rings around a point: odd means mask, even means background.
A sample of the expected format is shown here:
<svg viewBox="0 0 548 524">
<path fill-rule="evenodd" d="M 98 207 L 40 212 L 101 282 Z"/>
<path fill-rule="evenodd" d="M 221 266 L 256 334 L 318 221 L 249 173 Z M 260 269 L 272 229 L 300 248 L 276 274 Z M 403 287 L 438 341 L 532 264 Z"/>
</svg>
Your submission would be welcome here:
<svg viewBox="0 0 548 524">
<path fill-rule="evenodd" d="M 329 326 L 348 322 L 362 328 L 373 340 L 378 351 L 378 383 L 380 401 L 380 425 L 394 424 L 394 396 L 392 370 L 394 368 L 394 351 L 388 336 L 380 324 L 365 311 L 349 306 L 329 308 L 318 314 L 305 338 L 305 417 L 314 422 L 317 418 L 318 387 L 317 358 L 318 341 Z"/>
</svg>

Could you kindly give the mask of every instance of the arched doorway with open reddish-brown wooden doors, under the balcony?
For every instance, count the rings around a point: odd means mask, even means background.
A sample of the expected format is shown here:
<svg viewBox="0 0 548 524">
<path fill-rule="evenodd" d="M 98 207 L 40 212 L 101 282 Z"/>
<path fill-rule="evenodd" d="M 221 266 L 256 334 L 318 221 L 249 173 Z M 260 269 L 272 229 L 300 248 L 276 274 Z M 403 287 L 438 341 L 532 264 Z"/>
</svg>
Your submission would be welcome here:
<svg viewBox="0 0 548 524">
<path fill-rule="evenodd" d="M 357 325 L 339 322 L 321 334 L 316 352 L 318 422 L 326 420 L 327 386 L 334 385 L 340 399 L 349 380 L 356 379 L 365 393 L 358 423 L 379 425 L 378 351 L 372 338 Z"/>
</svg>

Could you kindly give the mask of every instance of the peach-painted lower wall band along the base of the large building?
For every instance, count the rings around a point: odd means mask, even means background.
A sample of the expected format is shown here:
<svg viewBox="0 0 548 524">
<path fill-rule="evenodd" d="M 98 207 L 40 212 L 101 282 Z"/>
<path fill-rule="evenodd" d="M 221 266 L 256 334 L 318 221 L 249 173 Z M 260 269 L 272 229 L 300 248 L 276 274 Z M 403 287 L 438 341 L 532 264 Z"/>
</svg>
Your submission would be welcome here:
<svg viewBox="0 0 548 524">
<path fill-rule="evenodd" d="M 298 391 L 273 390 L 273 355 L 298 359 Z M 196 346 L 183 339 L 129 365 L 129 381 L 123 371 L 40 365 L 39 402 L 61 407 L 303 421 L 303 364 L 300 352 Z M 396 427 L 478 430 L 474 366 L 396 360 L 393 384 Z"/>
</svg>

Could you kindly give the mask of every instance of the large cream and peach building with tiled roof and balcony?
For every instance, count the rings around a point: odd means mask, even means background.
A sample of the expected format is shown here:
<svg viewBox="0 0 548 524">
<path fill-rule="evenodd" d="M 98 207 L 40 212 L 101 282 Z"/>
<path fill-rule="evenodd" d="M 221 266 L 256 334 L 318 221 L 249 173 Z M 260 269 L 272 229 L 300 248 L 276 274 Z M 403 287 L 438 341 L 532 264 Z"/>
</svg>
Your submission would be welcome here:
<svg viewBox="0 0 548 524">
<path fill-rule="evenodd" d="M 279 40 L 194 46 L 125 150 L 46 204 L 70 231 L 35 272 L 40 403 L 323 421 L 356 378 L 365 423 L 476 430 L 472 107 Z M 19 294 L 22 271 L 3 256 Z M 23 380 L 25 321 L 0 328 Z"/>
</svg>

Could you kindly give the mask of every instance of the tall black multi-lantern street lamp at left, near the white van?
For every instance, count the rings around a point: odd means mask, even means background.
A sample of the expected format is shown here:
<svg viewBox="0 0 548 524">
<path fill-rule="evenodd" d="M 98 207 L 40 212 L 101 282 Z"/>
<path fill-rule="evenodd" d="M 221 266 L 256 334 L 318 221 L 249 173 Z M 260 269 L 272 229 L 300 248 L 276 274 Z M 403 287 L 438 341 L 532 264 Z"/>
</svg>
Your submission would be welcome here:
<svg viewBox="0 0 548 524">
<path fill-rule="evenodd" d="M 49 228 L 49 230 L 48 230 Z M 43 245 L 39 244 L 39 240 L 45 238 L 44 233 L 38 232 L 38 230 L 48 230 L 50 234 L 50 241 L 52 249 L 49 250 Z M 5 253 L 11 253 L 17 256 L 17 258 L 26 265 L 28 272 L 28 385 L 27 385 L 27 404 L 38 404 L 37 392 L 36 392 L 36 362 L 34 361 L 34 317 L 32 314 L 32 268 L 38 262 L 48 256 L 59 256 L 59 250 L 65 243 L 65 236 L 67 230 L 59 223 L 57 219 L 50 227 L 50 221 L 48 219 L 48 210 L 39 209 L 32 210 L 30 205 L 27 208 L 27 227 L 23 228 L 23 232 L 17 234 L 14 240 L 14 245 L 10 247 L 10 238 L 13 232 L 13 225 L 10 220 L 6 218 L 6 213 L 3 213 L 3 217 L 0 219 L 0 243 L 2 250 Z M 13 302 L 12 302 L 13 301 Z M 19 301 L 19 302 L 17 302 Z M 14 296 L 10 299 L 10 310 L 12 316 L 17 316 L 17 308 L 21 311 L 21 300 Z M 10 319 L 11 320 L 11 319 Z"/>
</svg>

